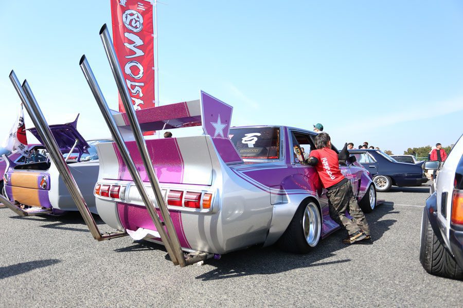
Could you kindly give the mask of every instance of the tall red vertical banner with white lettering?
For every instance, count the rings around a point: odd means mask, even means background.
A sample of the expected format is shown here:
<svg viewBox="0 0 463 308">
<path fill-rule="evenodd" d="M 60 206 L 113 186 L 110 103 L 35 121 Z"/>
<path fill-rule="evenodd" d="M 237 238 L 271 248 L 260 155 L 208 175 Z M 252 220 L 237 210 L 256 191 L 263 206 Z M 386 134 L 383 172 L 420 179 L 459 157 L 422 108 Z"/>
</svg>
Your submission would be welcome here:
<svg viewBox="0 0 463 308">
<path fill-rule="evenodd" d="M 135 110 L 154 105 L 153 5 L 111 0 L 113 43 Z M 124 107 L 119 98 L 119 111 Z"/>
</svg>

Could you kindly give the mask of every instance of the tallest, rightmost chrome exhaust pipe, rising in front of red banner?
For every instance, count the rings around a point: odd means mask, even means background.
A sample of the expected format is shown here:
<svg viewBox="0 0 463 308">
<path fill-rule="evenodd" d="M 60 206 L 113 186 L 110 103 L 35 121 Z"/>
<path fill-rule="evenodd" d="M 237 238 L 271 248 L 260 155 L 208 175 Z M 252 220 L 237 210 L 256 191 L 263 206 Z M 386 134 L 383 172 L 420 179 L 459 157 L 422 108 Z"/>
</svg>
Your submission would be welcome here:
<svg viewBox="0 0 463 308">
<path fill-rule="evenodd" d="M 166 203 L 164 202 L 162 191 L 159 187 L 159 181 L 154 172 L 154 168 L 151 163 L 151 158 L 146 147 L 145 139 L 143 138 L 143 133 L 141 132 L 140 124 L 138 123 L 138 119 L 133 108 L 129 90 L 127 89 L 126 83 L 124 82 L 122 70 L 120 68 L 119 61 L 117 60 L 116 51 L 114 50 L 114 45 L 111 40 L 108 28 L 106 27 L 106 24 L 104 24 L 100 29 L 100 37 L 101 41 L 103 42 L 104 50 L 106 51 L 106 56 L 109 60 L 111 70 L 113 71 L 114 79 L 119 90 L 120 98 L 122 100 L 124 108 L 126 109 L 126 114 L 129 119 L 130 126 L 132 127 L 138 151 L 140 152 L 140 156 L 143 160 L 145 170 L 148 174 L 148 179 L 150 180 L 151 187 L 153 188 L 157 205 L 159 206 L 159 210 L 161 210 L 161 214 L 164 218 L 164 223 L 167 227 L 168 236 L 171 240 L 173 254 L 175 255 L 177 261 L 179 261 L 180 266 L 183 267 L 185 266 L 185 256 L 182 251 L 182 246 L 180 245 L 179 237 L 177 237 L 177 234 L 175 232 L 175 228 L 173 226 L 169 210 L 167 209 Z M 148 206 L 147 208 L 150 213 L 150 216 L 153 219 L 155 217 L 158 217 L 157 212 L 154 209 L 154 206 L 151 206 L 151 202 L 150 206 Z"/>
</svg>

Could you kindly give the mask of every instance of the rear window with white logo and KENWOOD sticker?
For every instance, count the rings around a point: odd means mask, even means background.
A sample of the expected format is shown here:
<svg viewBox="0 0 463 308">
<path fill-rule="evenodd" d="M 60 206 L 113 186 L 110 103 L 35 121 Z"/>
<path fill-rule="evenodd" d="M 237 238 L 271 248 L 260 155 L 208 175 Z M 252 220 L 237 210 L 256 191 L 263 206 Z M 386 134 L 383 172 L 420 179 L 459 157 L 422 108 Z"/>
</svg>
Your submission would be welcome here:
<svg viewBox="0 0 463 308">
<path fill-rule="evenodd" d="M 278 159 L 280 157 L 278 127 L 232 128 L 228 137 L 241 158 Z"/>
</svg>

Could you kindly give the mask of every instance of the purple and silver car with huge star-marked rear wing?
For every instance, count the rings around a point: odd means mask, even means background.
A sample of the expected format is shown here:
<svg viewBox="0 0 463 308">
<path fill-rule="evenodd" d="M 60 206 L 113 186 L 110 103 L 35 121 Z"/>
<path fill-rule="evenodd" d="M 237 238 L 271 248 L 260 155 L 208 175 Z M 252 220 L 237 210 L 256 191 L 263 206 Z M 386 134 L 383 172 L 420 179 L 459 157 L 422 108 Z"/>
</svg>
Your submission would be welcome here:
<svg viewBox="0 0 463 308">
<path fill-rule="evenodd" d="M 185 115 L 174 112 L 185 108 Z M 313 131 L 287 126 L 230 129 L 231 107 L 204 92 L 201 102 L 136 114 L 144 130 L 156 129 L 156 122 L 161 123 L 157 127 L 174 123 L 165 127 L 169 130 L 203 125 L 201 136 L 146 140 L 184 251 L 224 254 L 278 242 L 287 251 L 307 253 L 340 228 L 330 218 L 326 190 L 315 168 L 302 155 L 302 147 L 315 148 Z M 168 115 L 172 118 L 165 118 Z M 115 114 L 116 123 L 127 125 L 124 116 Z M 126 145 L 136 151 L 135 142 Z M 134 239 L 162 243 L 117 147 L 101 143 L 97 148 L 100 172 L 95 197 L 100 217 Z M 141 160 L 134 163 L 143 169 Z M 350 163 L 341 170 L 362 208 L 375 208 L 376 190 L 366 170 Z M 143 177 L 149 187 L 146 174 Z"/>
</svg>

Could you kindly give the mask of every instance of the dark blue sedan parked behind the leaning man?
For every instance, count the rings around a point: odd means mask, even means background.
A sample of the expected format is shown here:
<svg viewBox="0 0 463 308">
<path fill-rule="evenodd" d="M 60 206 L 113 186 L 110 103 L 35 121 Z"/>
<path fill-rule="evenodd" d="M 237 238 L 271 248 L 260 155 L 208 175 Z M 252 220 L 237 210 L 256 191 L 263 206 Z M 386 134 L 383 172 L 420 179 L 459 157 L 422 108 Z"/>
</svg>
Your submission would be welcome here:
<svg viewBox="0 0 463 308">
<path fill-rule="evenodd" d="M 420 186 L 428 182 L 421 166 L 399 163 L 381 150 L 349 150 L 373 177 L 377 191 L 388 191 L 394 186 Z"/>
</svg>

